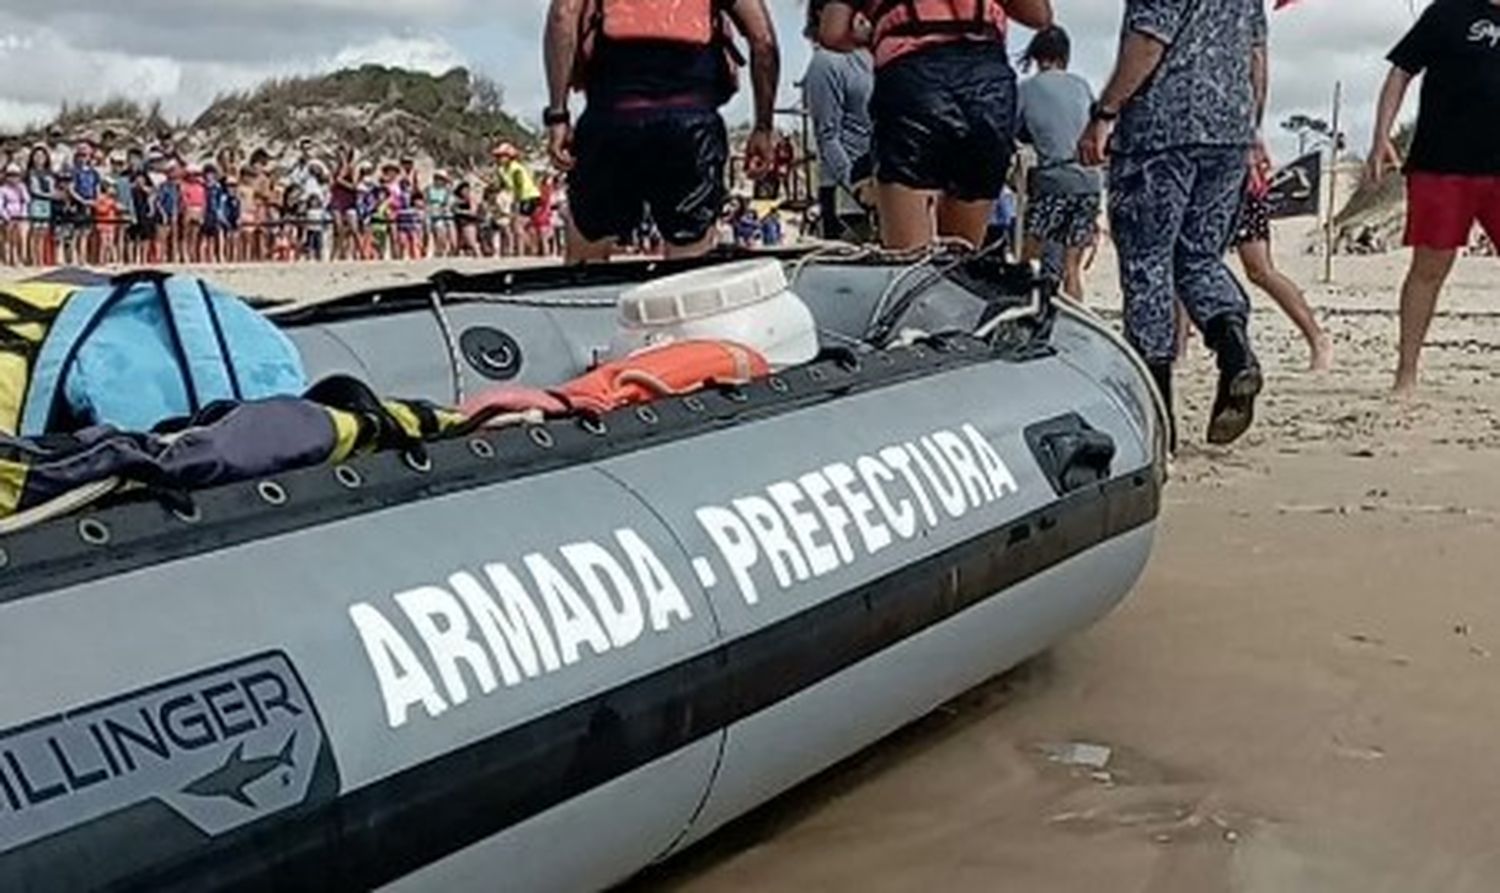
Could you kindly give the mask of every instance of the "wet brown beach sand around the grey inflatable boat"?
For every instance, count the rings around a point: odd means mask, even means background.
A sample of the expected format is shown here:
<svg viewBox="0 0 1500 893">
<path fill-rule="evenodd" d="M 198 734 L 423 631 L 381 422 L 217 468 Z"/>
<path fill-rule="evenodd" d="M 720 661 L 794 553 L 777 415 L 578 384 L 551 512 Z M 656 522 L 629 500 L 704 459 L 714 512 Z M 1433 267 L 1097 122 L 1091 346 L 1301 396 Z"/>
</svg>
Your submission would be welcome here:
<svg viewBox="0 0 1500 893">
<path fill-rule="evenodd" d="M 1281 263 L 1336 368 L 1304 372 L 1257 294 L 1262 417 L 1208 449 L 1194 342 L 1158 549 L 1114 615 L 633 888 L 1500 888 L 1500 263 L 1461 263 L 1407 404 L 1386 396 L 1404 257 L 1340 258 L 1336 287 L 1311 285 L 1317 258 Z M 464 264 L 214 278 L 303 297 L 438 266 Z M 1102 308 L 1112 266 L 1092 273 Z M 1076 741 L 1108 761 L 1048 756 Z"/>
</svg>

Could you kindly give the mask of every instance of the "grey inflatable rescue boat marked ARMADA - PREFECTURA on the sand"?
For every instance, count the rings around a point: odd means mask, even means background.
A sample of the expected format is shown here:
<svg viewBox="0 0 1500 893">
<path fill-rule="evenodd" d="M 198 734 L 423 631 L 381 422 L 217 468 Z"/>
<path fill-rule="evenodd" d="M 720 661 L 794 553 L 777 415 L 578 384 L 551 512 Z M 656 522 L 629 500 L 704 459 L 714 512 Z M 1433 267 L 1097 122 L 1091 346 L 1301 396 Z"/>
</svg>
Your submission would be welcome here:
<svg viewBox="0 0 1500 893">
<path fill-rule="evenodd" d="M 1089 626 L 1150 552 L 1149 377 L 984 258 L 267 312 L 309 380 L 504 423 L 0 536 L 0 890 L 608 887 Z M 558 392 L 705 339 L 740 374 Z"/>
</svg>

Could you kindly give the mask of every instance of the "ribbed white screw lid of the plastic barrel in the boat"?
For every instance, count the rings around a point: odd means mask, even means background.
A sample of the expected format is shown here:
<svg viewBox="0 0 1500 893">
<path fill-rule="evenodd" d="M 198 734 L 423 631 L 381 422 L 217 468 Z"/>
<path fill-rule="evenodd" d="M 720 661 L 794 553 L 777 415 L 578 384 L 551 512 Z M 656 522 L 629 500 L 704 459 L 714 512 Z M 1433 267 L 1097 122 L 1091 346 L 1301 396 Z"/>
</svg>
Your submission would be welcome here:
<svg viewBox="0 0 1500 893">
<path fill-rule="evenodd" d="M 620 296 L 626 326 L 670 326 L 702 320 L 786 293 L 778 260 L 753 260 L 664 276 Z"/>
</svg>

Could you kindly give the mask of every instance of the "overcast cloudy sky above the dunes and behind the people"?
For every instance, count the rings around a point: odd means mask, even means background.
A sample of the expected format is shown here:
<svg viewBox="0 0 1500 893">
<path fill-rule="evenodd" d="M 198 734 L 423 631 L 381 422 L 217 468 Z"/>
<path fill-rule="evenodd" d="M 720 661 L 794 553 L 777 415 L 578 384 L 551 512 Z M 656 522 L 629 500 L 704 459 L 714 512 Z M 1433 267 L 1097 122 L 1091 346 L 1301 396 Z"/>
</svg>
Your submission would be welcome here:
<svg viewBox="0 0 1500 893">
<path fill-rule="evenodd" d="M 783 99 L 807 51 L 802 0 L 770 0 L 786 45 Z M 1074 33 L 1074 68 L 1107 77 L 1124 0 L 1054 0 Z M 500 80 L 528 122 L 544 101 L 546 0 L 0 0 L 0 128 L 63 101 L 160 99 L 190 119 L 222 90 L 276 74 L 378 62 L 428 71 L 468 65 Z M 1274 120 L 1326 117 L 1344 80 L 1352 147 L 1370 140 L 1382 57 L 1412 24 L 1408 0 L 1302 0 L 1272 24 Z M 1014 44 L 1020 47 L 1022 35 Z M 1410 110 L 1408 110 L 1410 113 Z M 734 114 L 744 114 L 742 108 Z M 1286 150 L 1288 144 L 1280 143 Z"/>
</svg>

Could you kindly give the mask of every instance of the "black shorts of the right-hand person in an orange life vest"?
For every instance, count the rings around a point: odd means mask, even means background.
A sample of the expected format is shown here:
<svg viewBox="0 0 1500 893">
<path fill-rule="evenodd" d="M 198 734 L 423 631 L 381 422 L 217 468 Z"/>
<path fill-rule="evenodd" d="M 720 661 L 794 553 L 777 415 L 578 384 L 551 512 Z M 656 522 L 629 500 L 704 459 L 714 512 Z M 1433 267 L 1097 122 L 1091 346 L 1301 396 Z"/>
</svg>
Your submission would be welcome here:
<svg viewBox="0 0 1500 893">
<path fill-rule="evenodd" d="M 999 42 L 918 50 L 874 75 L 876 177 L 960 201 L 1000 195 L 1016 153 L 1016 71 Z"/>
</svg>

